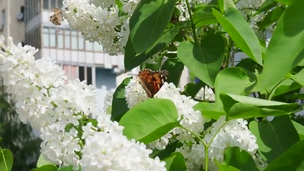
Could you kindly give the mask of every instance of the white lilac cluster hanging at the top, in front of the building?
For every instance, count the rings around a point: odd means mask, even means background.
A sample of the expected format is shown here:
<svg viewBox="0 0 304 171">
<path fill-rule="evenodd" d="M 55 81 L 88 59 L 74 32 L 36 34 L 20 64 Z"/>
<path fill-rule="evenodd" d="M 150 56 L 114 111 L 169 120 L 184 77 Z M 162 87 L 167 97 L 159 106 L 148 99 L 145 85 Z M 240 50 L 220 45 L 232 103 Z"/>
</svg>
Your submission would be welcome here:
<svg viewBox="0 0 304 171">
<path fill-rule="evenodd" d="M 63 0 L 63 15 L 69 25 L 82 32 L 85 39 L 96 41 L 103 50 L 116 55 L 123 52 L 129 26 L 128 21 L 138 0 L 119 0 L 120 15 L 115 0 Z"/>
</svg>

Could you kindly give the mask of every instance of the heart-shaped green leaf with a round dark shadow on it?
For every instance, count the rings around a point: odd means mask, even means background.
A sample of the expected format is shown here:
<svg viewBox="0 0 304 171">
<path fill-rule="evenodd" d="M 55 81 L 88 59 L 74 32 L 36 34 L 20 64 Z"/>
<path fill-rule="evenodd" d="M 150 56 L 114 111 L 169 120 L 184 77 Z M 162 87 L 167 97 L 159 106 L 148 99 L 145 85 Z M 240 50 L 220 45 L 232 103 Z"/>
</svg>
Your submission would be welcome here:
<svg viewBox="0 0 304 171">
<path fill-rule="evenodd" d="M 213 87 L 224 57 L 225 41 L 221 34 L 207 34 L 200 44 L 182 41 L 177 47 L 177 57 L 195 76 Z"/>
</svg>

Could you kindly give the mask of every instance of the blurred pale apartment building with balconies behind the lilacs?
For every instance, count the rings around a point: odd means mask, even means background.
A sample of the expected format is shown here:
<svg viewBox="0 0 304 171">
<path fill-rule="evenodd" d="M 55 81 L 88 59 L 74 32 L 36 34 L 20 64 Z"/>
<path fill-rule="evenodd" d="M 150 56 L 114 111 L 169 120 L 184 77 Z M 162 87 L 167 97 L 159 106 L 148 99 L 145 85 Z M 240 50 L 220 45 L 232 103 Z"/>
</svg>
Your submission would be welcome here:
<svg viewBox="0 0 304 171">
<path fill-rule="evenodd" d="M 61 8 L 62 0 L 0 0 L 0 34 L 38 48 L 36 58 L 50 57 L 69 79 L 87 80 L 97 88 L 99 99 L 105 90 L 139 71 L 134 68 L 124 74 L 123 55 L 103 52 L 101 45 L 85 40 L 65 20 L 61 25 L 52 24 L 48 18 L 55 7 Z M 188 70 L 182 75 L 181 87 L 189 81 Z"/>
</svg>

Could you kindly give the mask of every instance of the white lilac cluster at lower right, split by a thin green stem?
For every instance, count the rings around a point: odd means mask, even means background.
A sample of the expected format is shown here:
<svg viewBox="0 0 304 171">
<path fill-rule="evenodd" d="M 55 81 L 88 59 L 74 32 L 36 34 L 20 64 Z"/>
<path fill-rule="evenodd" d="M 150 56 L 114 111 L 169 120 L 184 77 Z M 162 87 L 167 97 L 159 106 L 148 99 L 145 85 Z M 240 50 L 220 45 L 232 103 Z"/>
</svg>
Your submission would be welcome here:
<svg viewBox="0 0 304 171">
<path fill-rule="evenodd" d="M 234 119 L 226 122 L 225 116 L 220 116 L 204 131 L 203 141 L 207 144 L 212 139 L 208 147 L 208 169 L 216 170 L 214 158 L 222 162 L 224 150 L 230 146 L 238 146 L 241 150 L 246 150 L 252 155 L 256 164 L 260 167 L 265 166 L 265 162 L 260 157 L 255 156 L 258 148 L 256 137 L 250 132 L 246 124 L 247 121 L 243 119 Z M 204 168 L 205 154 L 204 146 L 201 142 L 191 145 L 183 144 L 176 151 L 184 155 L 189 170 L 199 170 L 201 166 Z"/>
</svg>

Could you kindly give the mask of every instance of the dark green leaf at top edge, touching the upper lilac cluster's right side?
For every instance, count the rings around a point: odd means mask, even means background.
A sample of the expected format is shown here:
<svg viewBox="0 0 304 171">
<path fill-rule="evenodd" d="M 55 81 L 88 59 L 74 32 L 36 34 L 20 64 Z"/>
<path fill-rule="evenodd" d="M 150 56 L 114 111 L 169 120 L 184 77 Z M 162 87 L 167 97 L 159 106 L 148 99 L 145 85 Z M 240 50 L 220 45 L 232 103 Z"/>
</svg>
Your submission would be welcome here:
<svg viewBox="0 0 304 171">
<path fill-rule="evenodd" d="M 130 40 L 136 54 L 151 47 L 171 19 L 176 0 L 142 0 L 130 18 Z"/>
</svg>

